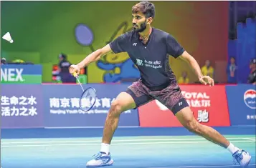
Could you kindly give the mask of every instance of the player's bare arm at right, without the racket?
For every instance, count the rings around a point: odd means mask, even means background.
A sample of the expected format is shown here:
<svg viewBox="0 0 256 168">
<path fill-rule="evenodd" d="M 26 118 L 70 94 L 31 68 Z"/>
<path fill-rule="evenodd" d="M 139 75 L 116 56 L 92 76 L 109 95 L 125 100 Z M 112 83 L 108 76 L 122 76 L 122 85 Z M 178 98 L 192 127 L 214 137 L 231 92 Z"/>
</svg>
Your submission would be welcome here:
<svg viewBox="0 0 256 168">
<path fill-rule="evenodd" d="M 200 69 L 199 64 L 197 63 L 196 59 L 194 59 L 193 56 L 191 56 L 187 51 L 184 51 L 179 58 L 183 59 L 184 61 L 186 61 L 187 63 L 189 63 L 189 65 L 191 66 L 191 68 L 194 70 L 196 76 L 198 76 L 199 81 L 202 84 L 210 84 L 211 86 L 214 85 L 214 80 L 212 78 L 210 78 L 209 76 L 204 76 L 202 74 L 202 71 Z"/>
</svg>

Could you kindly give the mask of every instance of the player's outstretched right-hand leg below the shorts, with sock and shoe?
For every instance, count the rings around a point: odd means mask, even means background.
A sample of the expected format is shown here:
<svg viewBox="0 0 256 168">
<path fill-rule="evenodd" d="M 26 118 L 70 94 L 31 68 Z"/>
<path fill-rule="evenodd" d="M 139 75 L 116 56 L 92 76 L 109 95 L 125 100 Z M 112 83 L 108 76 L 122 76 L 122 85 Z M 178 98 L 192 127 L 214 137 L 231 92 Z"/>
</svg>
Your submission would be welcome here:
<svg viewBox="0 0 256 168">
<path fill-rule="evenodd" d="M 178 103 L 179 105 L 179 103 Z M 218 144 L 225 149 L 228 149 L 229 152 L 233 155 L 234 159 L 242 166 L 245 167 L 250 163 L 251 156 L 245 150 L 234 147 L 234 144 L 229 142 L 226 138 L 222 136 L 219 132 L 217 132 L 212 127 L 208 127 L 206 125 L 200 124 L 194 118 L 193 112 L 191 112 L 190 107 L 184 107 L 183 109 L 176 112 L 176 117 L 181 122 L 181 124 L 189 129 L 190 132 L 194 132 L 194 134 L 198 134 L 201 137 L 213 142 L 214 144 Z"/>
</svg>

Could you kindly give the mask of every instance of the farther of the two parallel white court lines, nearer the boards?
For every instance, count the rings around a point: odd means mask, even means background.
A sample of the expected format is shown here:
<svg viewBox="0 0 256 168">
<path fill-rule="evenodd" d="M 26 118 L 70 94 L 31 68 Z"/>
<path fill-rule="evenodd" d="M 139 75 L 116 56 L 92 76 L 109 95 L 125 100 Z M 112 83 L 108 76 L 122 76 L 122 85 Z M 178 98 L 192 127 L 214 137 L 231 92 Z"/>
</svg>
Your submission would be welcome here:
<svg viewBox="0 0 256 168">
<path fill-rule="evenodd" d="M 250 137 L 231 137 L 227 139 L 247 139 L 251 140 Z M 113 140 L 112 142 L 146 142 L 146 141 L 181 141 L 181 140 L 205 140 L 204 138 L 173 138 L 173 139 L 120 139 Z M 77 143 L 77 142 L 101 142 L 101 140 L 83 140 L 83 141 L 26 141 L 26 142 L 1 142 L 1 144 L 52 144 L 52 143 Z"/>
</svg>

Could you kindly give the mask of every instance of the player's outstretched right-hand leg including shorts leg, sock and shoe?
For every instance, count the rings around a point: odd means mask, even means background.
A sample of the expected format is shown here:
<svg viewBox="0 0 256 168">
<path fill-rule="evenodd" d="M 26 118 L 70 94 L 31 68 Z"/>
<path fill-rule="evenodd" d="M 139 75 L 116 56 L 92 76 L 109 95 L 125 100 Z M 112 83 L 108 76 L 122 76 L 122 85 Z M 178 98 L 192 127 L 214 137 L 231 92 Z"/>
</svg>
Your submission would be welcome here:
<svg viewBox="0 0 256 168">
<path fill-rule="evenodd" d="M 218 144 L 219 146 L 228 149 L 240 165 L 245 166 L 249 164 L 251 157 L 247 152 L 234 147 L 234 145 L 225 139 L 222 134 L 219 134 L 219 132 L 212 127 L 200 124 L 194 118 L 193 112 L 186 102 L 186 99 L 184 99 L 181 94 L 181 89 L 177 84 L 172 84 L 156 94 L 158 101 L 168 107 L 186 129 L 204 137 L 214 144 Z"/>
</svg>

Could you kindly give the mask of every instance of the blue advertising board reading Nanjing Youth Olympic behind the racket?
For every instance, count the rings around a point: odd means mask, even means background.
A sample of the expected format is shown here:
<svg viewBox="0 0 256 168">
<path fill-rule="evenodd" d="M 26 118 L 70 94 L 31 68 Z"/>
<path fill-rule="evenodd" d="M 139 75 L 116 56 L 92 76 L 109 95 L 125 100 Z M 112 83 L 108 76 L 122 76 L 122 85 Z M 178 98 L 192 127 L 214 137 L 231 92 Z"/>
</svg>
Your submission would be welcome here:
<svg viewBox="0 0 256 168">
<path fill-rule="evenodd" d="M 89 112 L 79 108 L 82 89 L 74 85 L 43 85 L 45 127 L 103 127 L 111 102 L 126 84 L 84 84 L 94 87 L 98 99 Z M 138 110 L 131 109 L 120 115 L 119 127 L 138 127 Z"/>
</svg>

